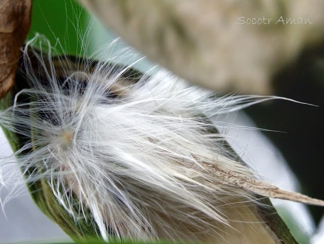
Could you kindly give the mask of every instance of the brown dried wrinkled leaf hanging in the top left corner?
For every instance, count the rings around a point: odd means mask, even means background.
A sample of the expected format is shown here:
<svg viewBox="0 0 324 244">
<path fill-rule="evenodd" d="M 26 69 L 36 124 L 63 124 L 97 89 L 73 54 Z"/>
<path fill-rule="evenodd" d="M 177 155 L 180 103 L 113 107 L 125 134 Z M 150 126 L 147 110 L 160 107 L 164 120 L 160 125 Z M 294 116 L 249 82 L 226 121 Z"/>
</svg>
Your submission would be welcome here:
<svg viewBox="0 0 324 244">
<path fill-rule="evenodd" d="M 17 60 L 30 27 L 32 0 L 0 0 L 0 98 L 15 83 Z"/>
</svg>

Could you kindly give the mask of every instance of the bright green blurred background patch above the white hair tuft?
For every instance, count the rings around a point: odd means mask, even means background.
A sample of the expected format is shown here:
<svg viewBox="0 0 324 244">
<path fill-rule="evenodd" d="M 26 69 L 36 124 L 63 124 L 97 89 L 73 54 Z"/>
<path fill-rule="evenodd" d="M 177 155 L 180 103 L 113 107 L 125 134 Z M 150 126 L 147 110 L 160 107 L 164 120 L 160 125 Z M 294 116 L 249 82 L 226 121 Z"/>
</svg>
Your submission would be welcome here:
<svg viewBox="0 0 324 244">
<path fill-rule="evenodd" d="M 31 27 L 26 40 L 33 38 L 35 33 L 46 37 L 60 54 L 86 57 L 95 52 L 99 56 L 104 54 L 103 47 L 117 38 L 110 29 L 74 0 L 34 0 Z M 119 40 L 113 45 L 113 50 L 109 50 L 109 55 L 117 54 L 126 48 L 125 43 Z M 116 55 L 114 62 L 128 65 L 142 57 Z M 152 66 L 153 64 L 145 59 L 133 67 L 146 72 Z"/>
</svg>

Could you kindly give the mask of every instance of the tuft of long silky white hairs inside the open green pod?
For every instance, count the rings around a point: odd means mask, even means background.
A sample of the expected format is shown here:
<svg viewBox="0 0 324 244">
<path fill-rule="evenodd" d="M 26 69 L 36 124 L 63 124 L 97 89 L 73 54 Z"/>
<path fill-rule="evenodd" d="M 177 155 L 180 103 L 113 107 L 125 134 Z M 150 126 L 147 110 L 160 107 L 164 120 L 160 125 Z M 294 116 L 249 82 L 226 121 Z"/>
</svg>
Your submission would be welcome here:
<svg viewBox="0 0 324 244">
<path fill-rule="evenodd" d="M 218 132 L 224 123 L 217 118 L 276 97 L 219 97 L 163 69 L 135 79 L 132 64 L 73 63 L 52 51 L 42 37 L 27 42 L 32 88 L 16 95 L 0 123 L 32 138 L 14 163 L 25 172 L 38 168 L 25 181 L 45 178 L 75 221 L 87 208 L 106 240 L 112 231 L 117 238 L 195 241 L 222 236 L 221 226 L 233 221 L 229 205 L 255 204 L 253 191 L 222 178 L 258 177 Z M 42 66 L 32 67 L 32 58 Z M 22 95 L 32 99 L 19 102 Z M 33 150 L 22 155 L 26 149 Z"/>
</svg>

